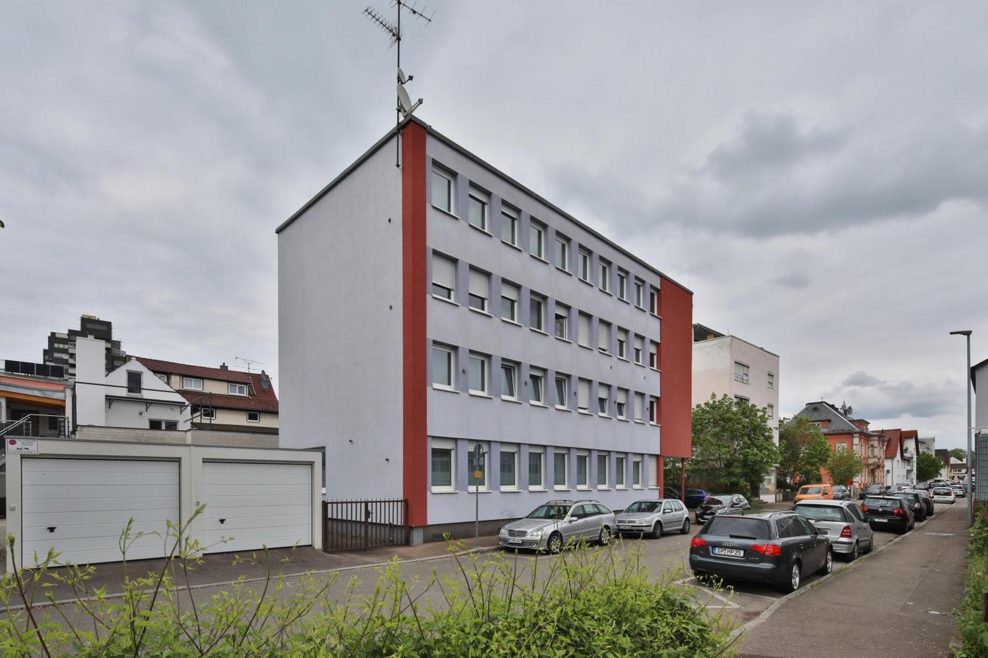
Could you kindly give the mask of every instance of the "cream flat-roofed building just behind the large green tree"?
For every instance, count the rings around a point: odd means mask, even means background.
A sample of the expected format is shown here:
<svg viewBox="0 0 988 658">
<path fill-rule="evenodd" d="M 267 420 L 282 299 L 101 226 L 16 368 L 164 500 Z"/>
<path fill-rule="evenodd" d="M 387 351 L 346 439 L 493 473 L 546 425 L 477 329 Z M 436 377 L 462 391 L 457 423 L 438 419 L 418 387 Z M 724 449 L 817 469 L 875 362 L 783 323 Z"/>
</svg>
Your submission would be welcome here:
<svg viewBox="0 0 988 658">
<path fill-rule="evenodd" d="M 693 325 L 693 404 L 710 395 L 734 398 L 738 404 L 764 409 L 779 445 L 779 355 L 737 336 L 701 324 Z M 776 500 L 776 469 L 766 475 L 760 493 Z"/>
</svg>

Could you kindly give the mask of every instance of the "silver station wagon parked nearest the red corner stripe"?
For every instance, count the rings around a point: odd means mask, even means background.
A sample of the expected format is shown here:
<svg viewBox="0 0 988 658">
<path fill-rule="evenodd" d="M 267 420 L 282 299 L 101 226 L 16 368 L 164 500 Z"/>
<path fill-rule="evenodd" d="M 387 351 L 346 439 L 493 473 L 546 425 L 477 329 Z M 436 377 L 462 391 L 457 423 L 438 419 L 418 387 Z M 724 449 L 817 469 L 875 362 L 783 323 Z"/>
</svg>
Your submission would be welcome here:
<svg viewBox="0 0 988 658">
<path fill-rule="evenodd" d="M 498 543 L 505 548 L 557 553 L 563 545 L 580 539 L 607 544 L 614 528 L 615 513 L 596 500 L 550 500 L 502 528 Z"/>
</svg>

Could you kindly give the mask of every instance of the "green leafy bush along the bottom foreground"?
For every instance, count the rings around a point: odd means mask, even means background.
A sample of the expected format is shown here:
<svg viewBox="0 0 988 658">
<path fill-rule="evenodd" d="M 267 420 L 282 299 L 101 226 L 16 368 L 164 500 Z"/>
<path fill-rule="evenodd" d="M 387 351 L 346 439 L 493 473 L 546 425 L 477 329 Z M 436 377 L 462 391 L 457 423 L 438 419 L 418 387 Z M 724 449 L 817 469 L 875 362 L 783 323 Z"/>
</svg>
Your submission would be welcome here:
<svg viewBox="0 0 988 658">
<path fill-rule="evenodd" d="M 672 658 L 730 651 L 726 617 L 703 609 L 695 590 L 673 584 L 676 576 L 651 582 L 640 548 L 623 558 L 613 548 L 577 547 L 528 562 L 461 557 L 462 546 L 451 544 L 455 576 L 434 573 L 418 587 L 392 561 L 380 569 L 370 597 L 358 596 L 351 581 L 339 600 L 328 596 L 335 573 L 309 573 L 288 583 L 273 575 L 262 551 L 236 558 L 265 566 L 261 582 L 241 579 L 197 599 L 183 585 L 202 548 L 182 540 L 186 528 L 164 537 L 174 559 L 157 573 L 125 578 L 118 597 L 92 589 L 93 567 L 50 571 L 59 564 L 56 554 L 36 569 L 5 576 L 0 655 Z M 137 536 L 124 530 L 124 555 Z M 77 600 L 32 605 L 51 579 L 69 584 Z"/>
</svg>

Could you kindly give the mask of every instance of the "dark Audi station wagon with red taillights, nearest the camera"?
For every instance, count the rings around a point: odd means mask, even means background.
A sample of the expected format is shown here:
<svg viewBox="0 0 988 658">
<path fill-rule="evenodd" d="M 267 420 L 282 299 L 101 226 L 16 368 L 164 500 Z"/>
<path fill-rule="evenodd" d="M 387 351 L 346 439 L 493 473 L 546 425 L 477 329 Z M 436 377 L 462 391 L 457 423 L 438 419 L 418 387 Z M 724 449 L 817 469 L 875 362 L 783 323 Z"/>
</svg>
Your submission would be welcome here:
<svg viewBox="0 0 988 658">
<path fill-rule="evenodd" d="M 793 592 L 804 574 L 833 568 L 830 539 L 793 512 L 718 514 L 690 542 L 690 569 L 698 579 L 772 583 Z"/>
</svg>

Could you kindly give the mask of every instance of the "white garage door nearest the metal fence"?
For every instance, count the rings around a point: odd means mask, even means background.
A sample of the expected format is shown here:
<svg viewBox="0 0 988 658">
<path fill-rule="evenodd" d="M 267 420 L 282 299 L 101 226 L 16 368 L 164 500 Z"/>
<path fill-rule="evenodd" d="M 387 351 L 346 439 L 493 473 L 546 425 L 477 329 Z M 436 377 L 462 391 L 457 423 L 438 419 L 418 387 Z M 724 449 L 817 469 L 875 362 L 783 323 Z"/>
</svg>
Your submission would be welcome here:
<svg viewBox="0 0 988 658">
<path fill-rule="evenodd" d="M 312 543 L 311 464 L 204 461 L 203 502 L 206 552 Z"/>
</svg>

